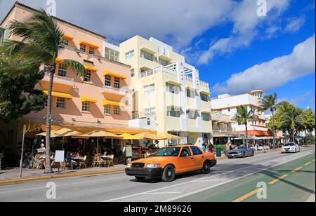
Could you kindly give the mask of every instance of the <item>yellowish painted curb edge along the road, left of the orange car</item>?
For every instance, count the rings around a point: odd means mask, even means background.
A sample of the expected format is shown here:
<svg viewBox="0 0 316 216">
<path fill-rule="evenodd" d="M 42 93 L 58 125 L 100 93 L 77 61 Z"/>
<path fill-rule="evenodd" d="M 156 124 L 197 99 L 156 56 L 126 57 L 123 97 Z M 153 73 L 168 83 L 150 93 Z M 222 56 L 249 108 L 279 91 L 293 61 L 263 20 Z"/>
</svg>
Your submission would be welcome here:
<svg viewBox="0 0 316 216">
<path fill-rule="evenodd" d="M 89 173 L 73 173 L 73 174 L 62 174 L 62 175 L 46 175 L 41 177 L 26 177 L 22 179 L 15 180 L 3 180 L 0 181 L 0 185 L 8 185 L 8 184 L 19 184 L 23 182 L 35 182 L 42 180 L 53 180 L 53 179 L 61 179 L 66 177 L 80 177 L 87 175 L 100 175 L 100 174 L 110 174 L 110 173 L 123 173 L 125 170 L 104 170 L 104 171 L 95 171 Z"/>
</svg>

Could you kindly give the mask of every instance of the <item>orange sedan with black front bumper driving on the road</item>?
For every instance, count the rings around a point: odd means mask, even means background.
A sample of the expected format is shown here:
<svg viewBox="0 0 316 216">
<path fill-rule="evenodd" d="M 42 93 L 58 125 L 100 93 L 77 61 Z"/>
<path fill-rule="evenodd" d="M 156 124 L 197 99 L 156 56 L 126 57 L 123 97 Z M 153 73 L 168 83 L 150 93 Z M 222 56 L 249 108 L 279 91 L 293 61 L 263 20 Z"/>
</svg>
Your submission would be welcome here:
<svg viewBox="0 0 316 216">
<path fill-rule="evenodd" d="M 213 166 L 216 166 L 213 154 L 195 146 L 176 145 L 159 149 L 149 158 L 129 163 L 125 172 L 137 180 L 161 177 L 164 182 L 172 182 L 180 173 L 201 170 L 207 174 Z"/>
</svg>

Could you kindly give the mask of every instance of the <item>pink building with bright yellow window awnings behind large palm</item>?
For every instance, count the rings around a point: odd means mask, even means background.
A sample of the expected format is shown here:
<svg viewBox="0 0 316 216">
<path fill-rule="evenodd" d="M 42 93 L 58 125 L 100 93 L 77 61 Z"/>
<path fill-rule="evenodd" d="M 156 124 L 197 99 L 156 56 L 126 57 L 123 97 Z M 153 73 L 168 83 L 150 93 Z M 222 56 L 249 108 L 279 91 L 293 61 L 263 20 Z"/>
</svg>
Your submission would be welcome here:
<svg viewBox="0 0 316 216">
<path fill-rule="evenodd" d="M 17 2 L 0 26 L 6 29 L 11 20 L 27 21 L 34 11 L 34 8 Z M 116 134 L 147 132 L 129 126 L 131 67 L 105 58 L 105 36 L 55 19 L 65 32 L 65 48 L 57 62 L 62 59 L 81 62 L 86 67 L 87 75 L 79 77 L 71 69 L 58 64 L 53 83 L 52 128 L 67 127 L 80 132 L 102 129 Z M 14 35 L 10 35 L 9 39 L 20 40 Z M 46 93 L 48 81 L 47 74 L 37 88 Z M 40 127 L 45 130 L 45 116 L 46 109 L 29 114 L 22 120 L 23 123 L 27 122 L 33 137 L 39 130 L 32 129 Z"/>
</svg>

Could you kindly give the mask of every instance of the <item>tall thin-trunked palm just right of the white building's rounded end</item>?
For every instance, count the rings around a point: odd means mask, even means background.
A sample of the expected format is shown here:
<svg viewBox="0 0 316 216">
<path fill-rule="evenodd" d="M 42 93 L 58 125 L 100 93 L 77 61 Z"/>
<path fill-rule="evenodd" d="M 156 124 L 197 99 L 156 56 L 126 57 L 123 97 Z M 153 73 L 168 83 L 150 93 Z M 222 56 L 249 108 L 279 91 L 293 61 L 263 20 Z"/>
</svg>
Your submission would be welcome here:
<svg viewBox="0 0 316 216">
<path fill-rule="evenodd" d="M 270 110 L 272 113 L 272 134 L 273 134 L 273 149 L 275 149 L 275 112 L 277 112 L 277 93 L 273 93 L 272 95 L 265 95 L 260 102 L 260 108 L 258 111 L 265 112 Z"/>
</svg>

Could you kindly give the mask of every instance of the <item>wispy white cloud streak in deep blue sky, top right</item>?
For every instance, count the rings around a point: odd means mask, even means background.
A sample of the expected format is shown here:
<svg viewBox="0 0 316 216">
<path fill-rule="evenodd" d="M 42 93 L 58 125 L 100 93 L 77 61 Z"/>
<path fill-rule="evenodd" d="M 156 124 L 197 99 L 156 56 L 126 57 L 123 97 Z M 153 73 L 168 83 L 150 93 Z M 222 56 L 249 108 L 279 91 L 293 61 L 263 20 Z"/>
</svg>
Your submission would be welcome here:
<svg viewBox="0 0 316 216">
<path fill-rule="evenodd" d="M 261 24 L 264 22 L 272 23 L 289 5 L 289 0 L 269 0 L 267 1 L 267 16 L 259 17 L 256 13 L 258 8 L 256 2 L 244 0 L 235 4 L 230 14 L 230 19 L 234 24 L 232 33 L 227 38 L 211 43 L 208 50 L 200 53 L 199 64 L 209 63 L 214 55 L 231 53 L 233 50 L 249 46 L 258 34 Z"/>
</svg>

